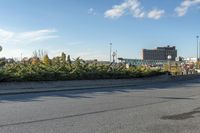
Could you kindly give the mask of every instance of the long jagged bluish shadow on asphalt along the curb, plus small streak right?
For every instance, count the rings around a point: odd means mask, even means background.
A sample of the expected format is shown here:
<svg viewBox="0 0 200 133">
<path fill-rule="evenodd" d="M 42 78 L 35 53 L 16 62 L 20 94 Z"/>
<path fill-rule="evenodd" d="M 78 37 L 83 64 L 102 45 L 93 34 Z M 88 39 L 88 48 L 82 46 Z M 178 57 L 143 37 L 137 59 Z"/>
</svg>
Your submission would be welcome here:
<svg viewBox="0 0 200 133">
<path fill-rule="evenodd" d="M 30 102 L 30 101 L 42 101 L 40 97 L 66 97 L 73 99 L 81 99 L 81 98 L 94 98 L 95 95 L 99 93 L 104 94 L 113 94 L 119 92 L 143 92 L 145 90 L 157 90 L 157 89 L 174 89 L 176 87 L 179 88 L 193 88 L 200 87 L 200 80 L 190 80 L 190 81 L 176 81 L 176 82 L 162 82 L 156 84 L 143 84 L 143 85 L 128 85 L 123 87 L 108 87 L 108 88 L 90 88 L 84 90 L 76 90 L 76 91 L 57 91 L 57 92 L 45 92 L 45 93 L 32 93 L 32 94 L 18 94 L 18 95 L 5 95 L 0 96 L 0 103 L 5 103 L 9 101 L 16 102 Z M 189 88 L 188 88 L 189 89 Z M 89 96 L 88 96 L 89 94 Z M 87 95 L 87 96 L 86 96 Z M 180 97 L 157 97 L 162 99 L 188 99 L 188 98 L 180 98 Z M 189 98 L 190 99 L 190 98 Z M 189 100 L 188 99 L 188 100 Z"/>
</svg>

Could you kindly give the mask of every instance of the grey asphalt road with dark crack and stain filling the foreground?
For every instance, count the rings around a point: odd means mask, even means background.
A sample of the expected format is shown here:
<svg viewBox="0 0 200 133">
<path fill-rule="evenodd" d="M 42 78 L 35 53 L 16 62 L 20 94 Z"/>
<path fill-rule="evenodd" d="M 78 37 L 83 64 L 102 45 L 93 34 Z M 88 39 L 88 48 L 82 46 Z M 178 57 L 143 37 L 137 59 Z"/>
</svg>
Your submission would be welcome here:
<svg viewBox="0 0 200 133">
<path fill-rule="evenodd" d="M 200 80 L 0 96 L 0 133 L 199 133 Z"/>
</svg>

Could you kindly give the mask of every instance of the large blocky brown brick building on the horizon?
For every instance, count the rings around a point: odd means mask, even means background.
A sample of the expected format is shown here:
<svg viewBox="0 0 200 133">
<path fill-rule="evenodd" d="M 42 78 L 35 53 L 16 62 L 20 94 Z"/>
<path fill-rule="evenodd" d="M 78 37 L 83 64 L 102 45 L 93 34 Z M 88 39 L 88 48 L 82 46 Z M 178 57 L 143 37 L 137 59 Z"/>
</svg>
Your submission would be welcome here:
<svg viewBox="0 0 200 133">
<path fill-rule="evenodd" d="M 177 57 L 176 47 L 157 47 L 156 49 L 143 49 L 143 60 L 168 60 L 168 56 L 171 56 L 171 60 L 175 61 Z"/>
</svg>

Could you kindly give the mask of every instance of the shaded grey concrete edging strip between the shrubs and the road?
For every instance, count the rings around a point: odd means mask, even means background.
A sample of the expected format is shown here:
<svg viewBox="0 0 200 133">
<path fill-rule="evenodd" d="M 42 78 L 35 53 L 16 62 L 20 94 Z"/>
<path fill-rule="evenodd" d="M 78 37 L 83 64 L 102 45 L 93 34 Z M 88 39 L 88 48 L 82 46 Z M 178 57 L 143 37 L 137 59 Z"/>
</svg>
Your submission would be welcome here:
<svg viewBox="0 0 200 133">
<path fill-rule="evenodd" d="M 41 93 L 56 91 L 115 89 L 126 86 L 141 86 L 160 82 L 173 82 L 199 78 L 199 75 L 169 76 L 161 75 L 141 79 L 116 80 L 76 80 L 76 81 L 46 81 L 46 82 L 1 82 L 0 95 L 14 95 L 25 93 Z"/>
</svg>

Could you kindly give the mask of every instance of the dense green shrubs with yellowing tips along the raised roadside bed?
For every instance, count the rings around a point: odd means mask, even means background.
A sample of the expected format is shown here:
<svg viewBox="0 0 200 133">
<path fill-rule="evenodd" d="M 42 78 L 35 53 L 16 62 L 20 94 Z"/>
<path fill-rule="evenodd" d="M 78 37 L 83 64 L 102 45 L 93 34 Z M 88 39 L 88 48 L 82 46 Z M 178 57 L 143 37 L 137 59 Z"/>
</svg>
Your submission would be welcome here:
<svg viewBox="0 0 200 133">
<path fill-rule="evenodd" d="M 6 59 L 0 61 L 0 81 L 121 79 L 160 74 L 163 74 L 161 70 L 142 66 L 127 69 L 124 64 L 106 64 L 96 60 L 86 62 L 80 58 L 72 61 L 65 53 L 53 59 L 45 54 L 43 57 L 34 56 L 18 62 Z"/>
</svg>

